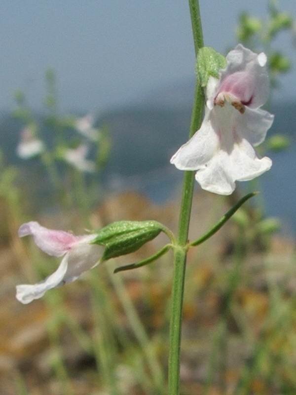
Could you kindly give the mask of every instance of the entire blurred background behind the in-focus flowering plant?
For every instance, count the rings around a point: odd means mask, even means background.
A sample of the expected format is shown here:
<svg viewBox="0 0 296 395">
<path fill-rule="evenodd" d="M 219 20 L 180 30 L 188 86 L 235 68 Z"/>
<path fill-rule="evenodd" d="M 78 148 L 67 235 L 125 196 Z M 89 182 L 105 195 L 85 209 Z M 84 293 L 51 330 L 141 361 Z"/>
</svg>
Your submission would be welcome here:
<svg viewBox="0 0 296 395">
<path fill-rule="evenodd" d="M 242 193 L 261 194 L 190 250 L 182 394 L 294 395 L 296 2 L 201 0 L 200 12 L 205 45 L 269 56 L 275 121 L 258 151 L 273 166 L 229 199 L 196 185 L 191 239 Z M 0 392 L 162 395 L 171 256 L 112 271 L 163 239 L 23 306 L 15 285 L 57 260 L 17 230 L 156 219 L 176 231 L 183 174 L 169 159 L 187 140 L 195 85 L 188 5 L 4 0 L 0 48 Z"/>
</svg>

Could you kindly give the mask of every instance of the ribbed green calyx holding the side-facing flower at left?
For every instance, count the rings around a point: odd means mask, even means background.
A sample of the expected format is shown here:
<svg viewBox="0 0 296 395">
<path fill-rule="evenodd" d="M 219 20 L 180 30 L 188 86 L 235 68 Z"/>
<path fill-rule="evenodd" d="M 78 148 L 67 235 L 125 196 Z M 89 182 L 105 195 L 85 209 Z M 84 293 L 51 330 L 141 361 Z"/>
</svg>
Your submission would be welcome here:
<svg viewBox="0 0 296 395">
<path fill-rule="evenodd" d="M 93 244 L 105 247 L 101 261 L 138 250 L 164 230 L 156 221 L 118 221 L 97 231 Z"/>
</svg>

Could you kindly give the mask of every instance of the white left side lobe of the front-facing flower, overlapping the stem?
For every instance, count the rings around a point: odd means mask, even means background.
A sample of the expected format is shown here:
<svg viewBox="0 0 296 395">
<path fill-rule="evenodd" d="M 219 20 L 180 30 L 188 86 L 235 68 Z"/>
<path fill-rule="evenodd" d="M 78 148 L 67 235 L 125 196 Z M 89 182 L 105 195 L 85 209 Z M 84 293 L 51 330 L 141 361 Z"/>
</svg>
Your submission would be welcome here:
<svg viewBox="0 0 296 395">
<path fill-rule="evenodd" d="M 180 170 L 197 170 L 213 157 L 218 142 L 210 120 L 205 117 L 201 128 L 176 152 L 171 163 Z"/>
</svg>

